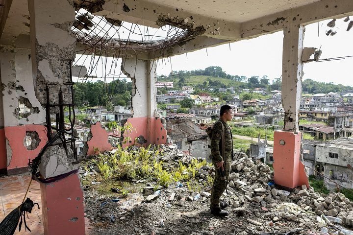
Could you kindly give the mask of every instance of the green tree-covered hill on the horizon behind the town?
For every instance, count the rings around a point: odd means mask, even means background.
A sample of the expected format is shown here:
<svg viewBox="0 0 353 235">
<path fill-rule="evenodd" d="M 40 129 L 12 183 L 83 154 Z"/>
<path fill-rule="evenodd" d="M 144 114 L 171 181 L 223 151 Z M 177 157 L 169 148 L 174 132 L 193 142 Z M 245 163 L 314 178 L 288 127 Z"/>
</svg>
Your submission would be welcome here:
<svg viewBox="0 0 353 235">
<path fill-rule="evenodd" d="M 236 87 L 240 89 L 254 89 L 255 87 L 268 88 L 269 90 L 281 90 L 281 79 L 276 78 L 272 81 L 268 77 L 230 75 L 219 66 L 210 66 L 204 70 L 194 71 L 173 71 L 173 74 L 158 75 L 157 81 L 174 82 L 174 88 L 178 89 L 182 86 L 197 86 L 199 89 L 203 88 L 227 88 Z M 344 86 L 342 84 L 333 84 L 318 82 L 312 79 L 304 79 L 303 92 L 309 94 L 329 92 L 341 92 L 346 90 L 353 90 L 351 86 Z"/>
</svg>

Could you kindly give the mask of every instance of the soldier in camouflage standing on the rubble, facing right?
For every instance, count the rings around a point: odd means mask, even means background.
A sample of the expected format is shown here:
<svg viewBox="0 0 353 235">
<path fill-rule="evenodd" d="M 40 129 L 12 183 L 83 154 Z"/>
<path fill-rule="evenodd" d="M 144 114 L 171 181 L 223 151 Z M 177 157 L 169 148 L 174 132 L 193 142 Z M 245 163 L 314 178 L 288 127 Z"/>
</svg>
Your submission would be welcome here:
<svg viewBox="0 0 353 235">
<path fill-rule="evenodd" d="M 230 128 L 227 121 L 232 119 L 232 109 L 229 105 L 223 105 L 221 107 L 220 119 L 216 121 L 212 128 L 212 138 L 211 138 L 211 153 L 212 153 L 212 164 L 224 171 L 225 176 L 228 180 L 230 172 L 230 162 L 233 152 L 233 141 Z M 225 158 L 221 156 L 222 150 L 222 124 L 225 129 Z M 226 216 L 227 211 L 220 208 L 220 197 L 225 191 L 226 186 L 224 180 L 221 179 L 219 170 L 216 170 L 216 177 L 213 181 L 212 193 L 211 193 L 211 213 L 216 216 Z"/>
</svg>

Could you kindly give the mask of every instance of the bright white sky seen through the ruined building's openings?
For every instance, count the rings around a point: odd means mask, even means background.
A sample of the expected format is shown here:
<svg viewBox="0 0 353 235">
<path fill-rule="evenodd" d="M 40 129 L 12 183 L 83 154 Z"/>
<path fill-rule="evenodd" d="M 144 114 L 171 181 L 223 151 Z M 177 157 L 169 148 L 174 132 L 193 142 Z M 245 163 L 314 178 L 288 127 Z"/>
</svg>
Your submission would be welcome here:
<svg viewBox="0 0 353 235">
<path fill-rule="evenodd" d="M 351 45 L 353 41 L 353 29 L 347 32 L 346 29 L 349 22 L 345 23 L 343 20 L 344 18 L 336 20 L 336 26 L 333 28 L 327 26 L 331 20 L 322 21 L 319 24 L 306 25 L 303 41 L 304 47 L 321 47 L 322 55 L 320 59 L 353 56 L 353 47 Z M 126 28 L 129 28 L 129 26 L 126 25 Z M 337 33 L 334 36 L 327 36 L 325 33 L 329 29 Z M 127 34 L 127 32 L 121 33 L 122 38 L 124 34 Z M 136 39 L 139 38 L 137 37 Z M 187 53 L 187 56 L 186 54 L 177 55 L 169 58 L 169 62 L 165 60 L 166 64 L 163 66 L 160 60 L 157 63 L 157 74 L 170 74 L 172 69 L 173 71 L 192 71 L 198 69 L 204 70 L 209 66 L 220 66 L 230 75 L 246 76 L 248 78 L 251 76 L 262 77 L 267 75 L 272 82 L 273 79 L 281 76 L 282 42 L 283 32 L 280 31 L 250 40 L 231 43 L 230 50 L 229 44 L 226 44 L 209 47 L 207 48 L 207 52 L 206 49 L 201 49 Z M 77 64 L 81 64 L 80 61 L 82 60 L 78 60 Z M 353 57 L 343 60 L 306 63 L 303 67 L 303 79 L 310 78 L 325 83 L 333 82 L 334 84 L 353 86 L 353 73 L 350 70 L 352 64 Z M 119 70 L 119 72 L 120 65 L 121 60 L 117 63 L 117 71 Z M 86 67 L 88 68 L 88 65 Z M 98 76 L 100 76 L 100 70 L 101 66 L 97 71 Z M 121 75 L 121 78 L 125 77 L 124 74 Z M 92 79 L 92 81 L 98 79 L 100 78 Z M 111 78 L 107 79 L 108 82 L 109 79 Z M 128 78 L 126 80 L 130 81 Z"/>
</svg>

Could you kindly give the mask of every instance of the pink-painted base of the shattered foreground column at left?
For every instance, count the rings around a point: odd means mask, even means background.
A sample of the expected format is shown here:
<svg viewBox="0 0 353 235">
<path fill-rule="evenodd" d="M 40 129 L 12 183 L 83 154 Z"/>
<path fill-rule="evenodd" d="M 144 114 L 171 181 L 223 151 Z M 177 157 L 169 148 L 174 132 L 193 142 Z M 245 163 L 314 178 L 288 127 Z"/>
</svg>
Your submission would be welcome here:
<svg viewBox="0 0 353 235">
<path fill-rule="evenodd" d="M 77 174 L 48 186 L 40 184 L 45 235 L 84 235 L 83 192 Z M 70 219 L 76 217 L 75 222 Z"/>
</svg>

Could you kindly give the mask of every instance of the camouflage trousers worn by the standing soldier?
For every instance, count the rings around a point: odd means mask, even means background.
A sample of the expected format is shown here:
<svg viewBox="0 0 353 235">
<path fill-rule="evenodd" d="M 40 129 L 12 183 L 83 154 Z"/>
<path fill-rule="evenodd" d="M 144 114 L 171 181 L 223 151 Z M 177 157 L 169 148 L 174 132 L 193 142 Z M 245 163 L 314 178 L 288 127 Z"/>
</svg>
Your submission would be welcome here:
<svg viewBox="0 0 353 235">
<path fill-rule="evenodd" d="M 217 165 L 212 163 L 216 168 L 216 176 L 213 181 L 212 185 L 212 192 L 211 192 L 211 207 L 212 208 L 219 208 L 220 207 L 220 198 L 222 193 L 226 190 L 225 181 L 221 180 L 221 176 L 219 173 L 219 169 L 217 169 Z M 224 172 L 226 179 L 229 179 L 229 172 L 230 172 L 230 163 L 224 164 Z"/>
</svg>

